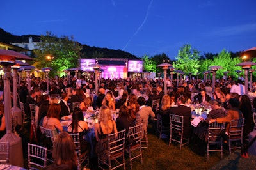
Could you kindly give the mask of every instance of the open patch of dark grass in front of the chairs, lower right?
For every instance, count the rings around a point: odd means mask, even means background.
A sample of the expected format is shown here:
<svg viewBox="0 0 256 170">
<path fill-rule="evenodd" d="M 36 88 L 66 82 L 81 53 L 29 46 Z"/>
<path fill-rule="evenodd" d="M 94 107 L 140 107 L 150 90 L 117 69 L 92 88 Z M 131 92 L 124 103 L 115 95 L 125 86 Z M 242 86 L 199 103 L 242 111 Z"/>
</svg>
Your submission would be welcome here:
<svg viewBox="0 0 256 170">
<path fill-rule="evenodd" d="M 212 151 L 207 160 L 205 157 L 196 155 L 191 146 L 182 146 L 179 150 L 179 144 L 172 142 L 169 146 L 169 139 L 159 139 L 156 130 L 152 125 L 148 125 L 149 152 L 143 150 L 143 164 L 140 158 L 132 162 L 133 169 L 211 169 L 215 164 L 220 162 L 221 155 L 219 151 Z M 223 158 L 229 155 L 225 150 Z M 126 161 L 126 167 L 129 169 L 129 160 Z"/>
</svg>

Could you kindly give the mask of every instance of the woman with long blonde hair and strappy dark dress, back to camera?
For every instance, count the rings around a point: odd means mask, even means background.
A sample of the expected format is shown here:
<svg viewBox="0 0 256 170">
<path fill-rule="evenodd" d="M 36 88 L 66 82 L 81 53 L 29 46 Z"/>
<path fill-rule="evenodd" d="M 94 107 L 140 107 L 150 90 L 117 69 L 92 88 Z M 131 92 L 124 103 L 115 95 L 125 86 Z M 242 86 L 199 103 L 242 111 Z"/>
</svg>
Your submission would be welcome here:
<svg viewBox="0 0 256 170">
<path fill-rule="evenodd" d="M 98 123 L 94 125 L 96 153 L 102 160 L 108 158 L 108 134 L 117 132 L 116 123 L 112 120 L 111 111 L 108 106 L 102 105 L 99 110 Z M 116 136 L 117 137 L 117 136 Z"/>
</svg>

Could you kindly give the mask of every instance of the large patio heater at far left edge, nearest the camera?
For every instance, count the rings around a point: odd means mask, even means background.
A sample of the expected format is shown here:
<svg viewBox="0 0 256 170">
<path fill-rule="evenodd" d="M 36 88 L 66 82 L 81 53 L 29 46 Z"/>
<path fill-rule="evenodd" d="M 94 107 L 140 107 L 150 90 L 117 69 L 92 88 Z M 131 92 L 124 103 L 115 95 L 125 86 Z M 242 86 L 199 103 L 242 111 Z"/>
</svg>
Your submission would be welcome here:
<svg viewBox="0 0 256 170">
<path fill-rule="evenodd" d="M 0 50 L 0 65 L 4 70 L 4 116 L 6 124 L 6 134 L 0 139 L 0 142 L 10 144 L 10 164 L 23 167 L 22 141 L 21 138 L 12 132 L 12 111 L 10 96 L 10 78 L 11 66 L 15 65 L 16 59 L 29 59 L 28 56 L 12 50 Z"/>
</svg>

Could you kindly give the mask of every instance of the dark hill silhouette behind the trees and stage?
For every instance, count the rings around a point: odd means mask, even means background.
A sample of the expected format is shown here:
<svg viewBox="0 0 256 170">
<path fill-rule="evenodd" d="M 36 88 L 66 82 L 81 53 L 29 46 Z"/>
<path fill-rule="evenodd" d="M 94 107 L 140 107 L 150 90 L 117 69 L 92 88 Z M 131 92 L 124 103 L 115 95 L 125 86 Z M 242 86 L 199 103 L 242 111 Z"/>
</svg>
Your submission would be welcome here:
<svg viewBox="0 0 256 170">
<path fill-rule="evenodd" d="M 4 29 L 0 28 L 0 42 L 3 43 L 22 43 L 27 42 L 28 38 L 32 37 L 33 42 L 40 41 L 40 35 L 12 35 L 4 31 Z M 81 44 L 83 45 L 83 44 Z M 112 50 L 107 48 L 100 48 L 100 47 L 90 47 L 88 45 L 83 45 L 83 49 L 81 50 L 82 58 L 93 58 L 93 54 L 103 54 L 102 58 L 127 58 L 127 59 L 139 59 L 136 56 L 130 54 L 129 52 L 125 52 L 122 50 Z"/>
</svg>

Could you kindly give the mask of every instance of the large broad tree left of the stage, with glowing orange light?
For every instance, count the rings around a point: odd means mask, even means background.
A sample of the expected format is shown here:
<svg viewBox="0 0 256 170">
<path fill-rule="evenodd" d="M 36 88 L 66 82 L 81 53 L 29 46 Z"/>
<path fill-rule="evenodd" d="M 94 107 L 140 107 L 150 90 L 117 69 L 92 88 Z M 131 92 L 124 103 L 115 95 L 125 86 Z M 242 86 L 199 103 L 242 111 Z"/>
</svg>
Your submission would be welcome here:
<svg viewBox="0 0 256 170">
<path fill-rule="evenodd" d="M 40 42 L 33 50 L 36 56 L 34 63 L 36 68 L 51 67 L 57 72 L 77 67 L 82 47 L 73 39 L 73 36 L 58 38 L 51 31 L 47 31 L 45 36 L 40 37 Z"/>
</svg>

